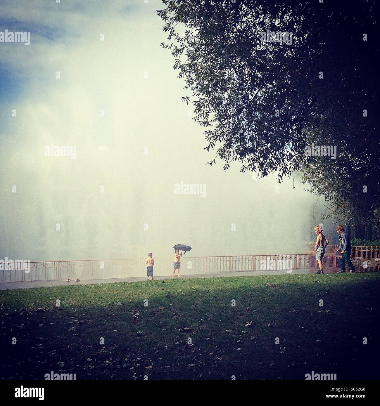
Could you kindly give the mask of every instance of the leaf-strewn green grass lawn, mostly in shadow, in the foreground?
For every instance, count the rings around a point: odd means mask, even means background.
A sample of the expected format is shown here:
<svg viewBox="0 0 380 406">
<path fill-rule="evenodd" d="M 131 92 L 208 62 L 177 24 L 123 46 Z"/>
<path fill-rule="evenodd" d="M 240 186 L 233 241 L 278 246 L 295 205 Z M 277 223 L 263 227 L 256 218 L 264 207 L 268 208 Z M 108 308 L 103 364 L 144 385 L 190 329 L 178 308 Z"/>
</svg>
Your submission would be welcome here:
<svg viewBox="0 0 380 406">
<path fill-rule="evenodd" d="M 373 272 L 0 291 L 0 378 L 378 379 L 379 290 Z"/>
</svg>

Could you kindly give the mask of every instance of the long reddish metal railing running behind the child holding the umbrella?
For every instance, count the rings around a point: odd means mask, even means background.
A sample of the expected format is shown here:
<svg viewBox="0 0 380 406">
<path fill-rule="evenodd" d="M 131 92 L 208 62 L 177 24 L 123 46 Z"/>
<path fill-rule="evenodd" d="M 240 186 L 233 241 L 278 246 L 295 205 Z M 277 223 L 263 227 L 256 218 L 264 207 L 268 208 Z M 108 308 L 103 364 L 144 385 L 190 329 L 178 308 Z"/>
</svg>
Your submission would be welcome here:
<svg viewBox="0 0 380 406">
<path fill-rule="evenodd" d="M 336 251 L 336 250 L 335 250 Z M 334 252 L 335 253 L 335 252 Z M 172 258 L 155 258 L 154 275 L 173 272 Z M 326 253 L 324 267 L 337 265 L 336 256 Z M 0 282 L 57 281 L 76 278 L 115 279 L 146 275 L 145 259 L 99 259 L 78 261 L 33 261 L 30 272 L 0 270 Z M 317 268 L 315 253 L 282 255 L 230 255 L 215 257 L 182 257 L 180 274 L 209 272 L 242 272 L 260 270 L 295 270 Z"/>
</svg>

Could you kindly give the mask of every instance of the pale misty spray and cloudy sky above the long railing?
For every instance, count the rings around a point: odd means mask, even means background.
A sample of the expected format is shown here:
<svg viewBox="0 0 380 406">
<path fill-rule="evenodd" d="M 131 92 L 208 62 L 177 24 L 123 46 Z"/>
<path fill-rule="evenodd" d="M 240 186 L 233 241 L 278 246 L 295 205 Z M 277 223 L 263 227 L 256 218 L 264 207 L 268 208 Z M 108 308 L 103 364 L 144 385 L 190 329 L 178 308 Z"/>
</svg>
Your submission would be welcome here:
<svg viewBox="0 0 380 406">
<path fill-rule="evenodd" d="M 0 43 L 1 258 L 296 253 L 313 238 L 321 199 L 297 177 L 276 189 L 205 165 L 214 155 L 160 46 L 162 7 L 0 0 L 0 31 L 30 31 L 30 45 Z M 203 192 L 176 193 L 186 184 Z"/>
</svg>

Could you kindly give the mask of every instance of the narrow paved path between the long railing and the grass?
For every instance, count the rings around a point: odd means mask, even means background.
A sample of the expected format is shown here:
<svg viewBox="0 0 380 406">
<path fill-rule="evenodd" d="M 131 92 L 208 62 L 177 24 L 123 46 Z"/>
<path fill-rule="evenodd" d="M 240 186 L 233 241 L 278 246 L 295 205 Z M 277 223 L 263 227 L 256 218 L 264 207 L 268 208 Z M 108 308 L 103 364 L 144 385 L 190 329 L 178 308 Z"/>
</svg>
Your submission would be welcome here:
<svg viewBox="0 0 380 406">
<path fill-rule="evenodd" d="M 337 273 L 338 268 L 326 268 L 325 273 L 332 274 Z M 291 273 L 293 274 L 314 274 L 317 270 L 312 269 L 296 269 Z M 181 278 L 174 276 L 174 279 L 186 279 L 186 278 L 218 278 L 221 276 L 254 276 L 254 275 L 283 275 L 287 274 L 287 271 L 273 270 L 273 271 L 240 271 L 240 272 L 210 272 L 208 274 L 196 274 L 196 275 L 182 275 Z M 157 276 L 156 281 L 162 279 L 172 279 L 172 276 Z M 31 287 L 48 287 L 48 286 L 65 286 L 65 285 L 92 285 L 95 283 L 115 283 L 115 282 L 139 282 L 146 281 L 146 276 L 139 278 L 111 278 L 111 279 L 83 279 L 79 282 L 71 281 L 36 281 L 36 282 L 4 282 L 0 283 L 0 290 L 4 289 L 25 289 Z"/>
</svg>

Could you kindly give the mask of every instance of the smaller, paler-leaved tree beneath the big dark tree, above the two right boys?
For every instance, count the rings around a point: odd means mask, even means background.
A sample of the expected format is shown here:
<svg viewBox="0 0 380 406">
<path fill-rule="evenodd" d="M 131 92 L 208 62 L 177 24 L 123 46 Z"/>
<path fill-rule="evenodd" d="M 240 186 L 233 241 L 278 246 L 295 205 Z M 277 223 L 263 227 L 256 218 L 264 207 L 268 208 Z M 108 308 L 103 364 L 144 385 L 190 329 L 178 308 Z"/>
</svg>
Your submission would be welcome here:
<svg viewBox="0 0 380 406">
<path fill-rule="evenodd" d="M 327 128 L 314 129 L 310 143 L 330 145 Z M 352 142 L 355 134 L 341 137 L 339 159 L 313 157 L 303 169 L 303 181 L 309 191 L 323 196 L 332 217 L 345 222 L 352 237 L 365 240 L 380 237 L 380 145 L 367 139 Z"/>
</svg>

